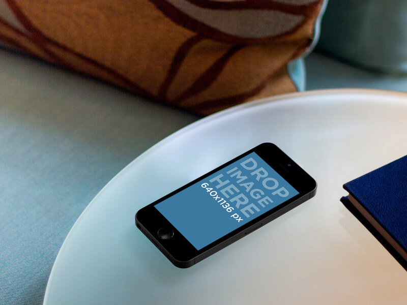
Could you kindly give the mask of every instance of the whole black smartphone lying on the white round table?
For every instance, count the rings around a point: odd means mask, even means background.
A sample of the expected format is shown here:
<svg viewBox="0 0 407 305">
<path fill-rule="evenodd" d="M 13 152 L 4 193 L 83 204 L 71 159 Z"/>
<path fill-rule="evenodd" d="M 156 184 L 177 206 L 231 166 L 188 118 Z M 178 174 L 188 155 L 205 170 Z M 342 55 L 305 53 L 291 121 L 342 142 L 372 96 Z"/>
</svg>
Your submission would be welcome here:
<svg viewBox="0 0 407 305">
<path fill-rule="evenodd" d="M 135 221 L 174 265 L 187 268 L 315 193 L 310 175 L 263 143 L 141 208 Z"/>
</svg>

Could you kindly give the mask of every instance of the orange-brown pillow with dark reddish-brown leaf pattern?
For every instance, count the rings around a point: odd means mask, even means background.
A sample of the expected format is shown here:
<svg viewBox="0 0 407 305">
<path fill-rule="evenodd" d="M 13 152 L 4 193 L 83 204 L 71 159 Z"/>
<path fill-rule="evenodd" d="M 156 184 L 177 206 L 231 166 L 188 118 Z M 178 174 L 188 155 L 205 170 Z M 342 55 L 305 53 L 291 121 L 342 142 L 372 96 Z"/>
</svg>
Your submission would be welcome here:
<svg viewBox="0 0 407 305">
<path fill-rule="evenodd" d="M 293 92 L 323 0 L 0 0 L 0 41 L 209 114 Z"/>
</svg>

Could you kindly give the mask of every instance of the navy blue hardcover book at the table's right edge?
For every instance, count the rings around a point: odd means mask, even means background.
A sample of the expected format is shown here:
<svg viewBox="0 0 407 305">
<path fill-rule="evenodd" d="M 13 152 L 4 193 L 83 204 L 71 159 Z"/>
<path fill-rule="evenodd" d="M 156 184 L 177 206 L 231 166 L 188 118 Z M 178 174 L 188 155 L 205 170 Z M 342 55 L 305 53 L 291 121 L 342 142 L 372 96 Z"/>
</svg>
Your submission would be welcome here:
<svg viewBox="0 0 407 305">
<path fill-rule="evenodd" d="M 407 156 L 343 188 L 341 202 L 407 270 Z"/>
</svg>

